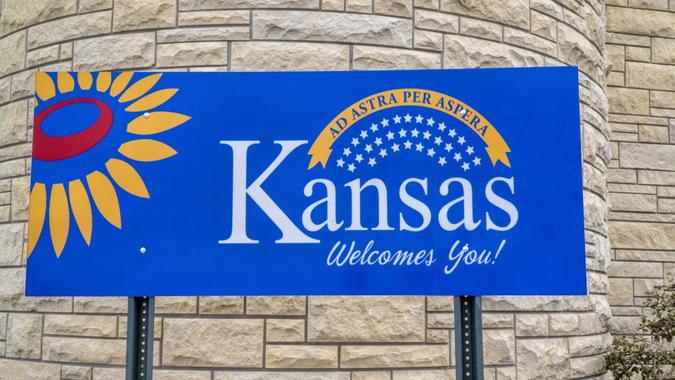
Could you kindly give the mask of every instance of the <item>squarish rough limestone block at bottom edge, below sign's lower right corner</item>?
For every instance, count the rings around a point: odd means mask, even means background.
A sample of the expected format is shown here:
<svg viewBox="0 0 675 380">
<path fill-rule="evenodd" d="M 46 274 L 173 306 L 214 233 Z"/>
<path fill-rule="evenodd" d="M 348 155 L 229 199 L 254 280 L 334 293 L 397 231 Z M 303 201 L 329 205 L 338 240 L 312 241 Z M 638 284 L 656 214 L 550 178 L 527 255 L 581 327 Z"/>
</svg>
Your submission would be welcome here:
<svg viewBox="0 0 675 380">
<path fill-rule="evenodd" d="M 564 338 L 527 339 L 518 347 L 518 378 L 569 378 L 570 357 Z"/>
</svg>

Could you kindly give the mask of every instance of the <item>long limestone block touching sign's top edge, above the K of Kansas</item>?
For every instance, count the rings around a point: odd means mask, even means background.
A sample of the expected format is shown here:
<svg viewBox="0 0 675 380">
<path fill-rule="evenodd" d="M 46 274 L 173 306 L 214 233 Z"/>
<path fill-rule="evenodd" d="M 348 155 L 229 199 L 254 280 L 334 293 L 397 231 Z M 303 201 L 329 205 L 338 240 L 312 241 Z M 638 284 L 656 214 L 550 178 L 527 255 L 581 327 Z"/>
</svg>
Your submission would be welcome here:
<svg viewBox="0 0 675 380">
<path fill-rule="evenodd" d="M 313 42 L 232 43 L 232 71 L 348 70 L 349 46 Z"/>
</svg>

